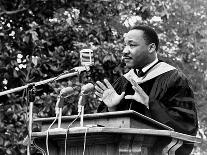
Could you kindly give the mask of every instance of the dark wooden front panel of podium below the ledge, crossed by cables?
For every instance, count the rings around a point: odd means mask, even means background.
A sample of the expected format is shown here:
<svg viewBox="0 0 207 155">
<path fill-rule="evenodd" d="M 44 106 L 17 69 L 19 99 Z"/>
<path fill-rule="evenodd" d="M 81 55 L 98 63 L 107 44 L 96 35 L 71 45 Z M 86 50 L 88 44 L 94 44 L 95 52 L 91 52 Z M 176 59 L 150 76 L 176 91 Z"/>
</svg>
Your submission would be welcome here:
<svg viewBox="0 0 207 155">
<path fill-rule="evenodd" d="M 62 136 L 61 136 L 62 137 Z M 116 134 L 86 135 L 85 155 L 118 155 L 119 136 Z M 46 139 L 38 138 L 35 142 L 46 152 Z M 50 155 L 65 155 L 65 138 L 49 137 Z M 71 135 L 67 139 L 67 155 L 82 155 L 84 151 L 84 135 Z"/>
</svg>

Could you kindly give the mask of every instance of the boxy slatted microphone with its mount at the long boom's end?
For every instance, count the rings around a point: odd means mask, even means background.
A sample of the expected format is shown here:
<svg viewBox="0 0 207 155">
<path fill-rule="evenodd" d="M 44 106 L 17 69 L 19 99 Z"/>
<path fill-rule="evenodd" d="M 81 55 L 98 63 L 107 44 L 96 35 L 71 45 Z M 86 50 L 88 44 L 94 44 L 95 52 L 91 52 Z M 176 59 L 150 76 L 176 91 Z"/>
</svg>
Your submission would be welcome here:
<svg viewBox="0 0 207 155">
<path fill-rule="evenodd" d="M 91 49 L 82 49 L 80 51 L 81 66 L 73 68 L 77 72 L 89 71 L 90 66 L 94 65 L 94 55 Z"/>
</svg>

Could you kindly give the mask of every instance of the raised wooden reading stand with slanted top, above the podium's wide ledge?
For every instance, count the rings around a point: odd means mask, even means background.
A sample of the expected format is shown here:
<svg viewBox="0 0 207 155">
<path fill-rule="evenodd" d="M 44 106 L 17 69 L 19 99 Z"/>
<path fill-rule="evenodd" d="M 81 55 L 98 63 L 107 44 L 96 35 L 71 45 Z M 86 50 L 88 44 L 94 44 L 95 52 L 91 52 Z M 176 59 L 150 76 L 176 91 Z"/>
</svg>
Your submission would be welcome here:
<svg viewBox="0 0 207 155">
<path fill-rule="evenodd" d="M 63 116 L 61 128 L 67 128 L 68 125 L 77 116 Z M 34 119 L 34 123 L 38 123 L 41 126 L 41 131 L 46 131 L 54 118 L 39 118 Z M 114 128 L 138 128 L 138 129 L 160 129 L 160 130 L 173 130 L 172 128 L 157 122 L 149 117 L 146 117 L 140 113 L 132 110 L 118 111 L 118 112 L 106 112 L 97 114 L 85 114 L 83 126 L 87 125 L 98 125 L 103 127 L 114 127 Z M 79 127 L 80 119 L 78 118 L 71 127 Z M 52 126 L 57 128 L 57 121 Z"/>
</svg>

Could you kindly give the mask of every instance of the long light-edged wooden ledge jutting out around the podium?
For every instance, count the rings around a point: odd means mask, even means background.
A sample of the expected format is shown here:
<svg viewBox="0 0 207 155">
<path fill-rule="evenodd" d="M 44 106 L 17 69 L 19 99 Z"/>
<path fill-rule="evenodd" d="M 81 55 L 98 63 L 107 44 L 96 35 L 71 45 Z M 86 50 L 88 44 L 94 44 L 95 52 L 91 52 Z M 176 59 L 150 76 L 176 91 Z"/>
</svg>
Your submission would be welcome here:
<svg viewBox="0 0 207 155">
<path fill-rule="evenodd" d="M 47 133 L 48 132 L 48 133 Z M 88 134 L 92 133 L 93 135 L 95 133 L 111 133 L 111 134 L 133 134 L 133 135 L 146 135 L 146 136 L 165 136 L 165 137 L 171 137 L 176 138 L 192 143 L 201 143 L 202 140 L 199 137 L 191 136 L 175 131 L 170 130 L 153 130 L 153 129 L 135 129 L 135 128 L 110 128 L 110 127 L 73 127 L 67 129 L 63 128 L 55 128 L 50 129 L 43 132 L 33 132 L 32 137 L 45 137 L 48 135 L 50 136 L 65 136 L 67 133 L 70 135 L 74 134 Z"/>
</svg>

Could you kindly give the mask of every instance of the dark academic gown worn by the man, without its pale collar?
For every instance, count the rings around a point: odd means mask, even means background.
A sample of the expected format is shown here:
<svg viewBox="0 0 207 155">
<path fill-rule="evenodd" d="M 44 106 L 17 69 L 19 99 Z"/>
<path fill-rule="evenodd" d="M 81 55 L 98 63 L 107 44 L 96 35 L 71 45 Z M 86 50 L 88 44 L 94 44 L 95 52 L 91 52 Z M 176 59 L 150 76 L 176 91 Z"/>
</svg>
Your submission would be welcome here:
<svg viewBox="0 0 207 155">
<path fill-rule="evenodd" d="M 117 111 L 134 110 L 172 127 L 177 132 L 196 135 L 196 103 L 189 82 L 182 72 L 177 69 L 171 70 L 140 83 L 139 86 L 149 96 L 149 109 L 135 100 L 122 99 L 117 105 Z M 118 78 L 113 87 L 118 94 L 134 94 L 132 84 L 124 76 Z M 98 112 L 104 111 L 107 111 L 107 107 L 102 103 L 98 107 Z M 176 155 L 190 154 L 192 149 L 192 144 L 184 143 L 176 151 Z"/>
</svg>

